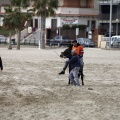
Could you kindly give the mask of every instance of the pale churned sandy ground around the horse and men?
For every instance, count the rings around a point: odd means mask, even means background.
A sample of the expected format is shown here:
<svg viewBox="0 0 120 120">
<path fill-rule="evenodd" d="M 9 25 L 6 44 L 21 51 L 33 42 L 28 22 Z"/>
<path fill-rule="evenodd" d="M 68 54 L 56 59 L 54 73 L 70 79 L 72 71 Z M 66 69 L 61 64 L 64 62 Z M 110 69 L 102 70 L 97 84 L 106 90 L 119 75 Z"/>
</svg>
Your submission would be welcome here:
<svg viewBox="0 0 120 120">
<path fill-rule="evenodd" d="M 85 48 L 78 87 L 58 75 L 64 49 L 0 46 L 0 120 L 120 120 L 120 50 Z"/>
</svg>

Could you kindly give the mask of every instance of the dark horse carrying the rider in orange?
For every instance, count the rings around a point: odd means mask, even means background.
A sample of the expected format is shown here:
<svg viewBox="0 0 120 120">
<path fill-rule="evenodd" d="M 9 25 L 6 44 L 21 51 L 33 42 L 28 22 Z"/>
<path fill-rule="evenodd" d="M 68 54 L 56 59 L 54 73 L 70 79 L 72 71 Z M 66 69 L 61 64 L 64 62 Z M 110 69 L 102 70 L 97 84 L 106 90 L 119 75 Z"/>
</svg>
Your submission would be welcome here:
<svg viewBox="0 0 120 120">
<path fill-rule="evenodd" d="M 78 44 L 79 45 L 79 44 Z M 69 45 L 69 47 L 67 49 L 65 49 L 63 52 L 61 52 L 60 54 L 60 57 L 63 57 L 63 56 L 67 56 L 67 55 L 71 55 L 71 50 L 72 50 L 72 45 Z M 82 81 L 82 85 L 84 85 L 84 74 L 83 74 L 83 67 L 84 65 L 82 65 L 80 67 L 80 70 L 79 70 L 79 73 L 78 73 L 78 76 L 81 78 L 81 81 Z M 69 73 L 71 71 L 71 65 L 69 65 Z M 69 82 L 68 84 L 70 84 L 70 79 L 69 79 Z"/>
</svg>

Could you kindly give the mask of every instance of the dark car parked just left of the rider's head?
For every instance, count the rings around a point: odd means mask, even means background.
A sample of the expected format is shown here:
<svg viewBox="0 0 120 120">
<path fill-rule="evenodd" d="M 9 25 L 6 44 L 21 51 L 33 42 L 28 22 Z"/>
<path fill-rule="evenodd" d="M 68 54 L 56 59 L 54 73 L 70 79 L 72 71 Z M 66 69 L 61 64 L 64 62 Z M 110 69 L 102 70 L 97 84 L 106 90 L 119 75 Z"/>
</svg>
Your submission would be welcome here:
<svg viewBox="0 0 120 120">
<path fill-rule="evenodd" d="M 70 37 L 69 36 L 55 36 L 52 40 L 50 40 L 49 45 L 69 45 L 71 43 Z"/>
</svg>

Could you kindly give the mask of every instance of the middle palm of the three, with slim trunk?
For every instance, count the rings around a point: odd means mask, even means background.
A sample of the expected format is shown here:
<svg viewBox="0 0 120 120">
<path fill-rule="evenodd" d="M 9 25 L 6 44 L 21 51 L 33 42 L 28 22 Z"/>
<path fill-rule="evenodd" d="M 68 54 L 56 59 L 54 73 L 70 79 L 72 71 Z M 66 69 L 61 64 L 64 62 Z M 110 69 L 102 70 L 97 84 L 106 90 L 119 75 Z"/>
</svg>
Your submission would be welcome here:
<svg viewBox="0 0 120 120">
<path fill-rule="evenodd" d="M 12 7 L 14 8 L 14 23 L 18 30 L 17 49 L 20 49 L 21 30 L 24 28 L 24 23 L 31 15 L 28 13 L 22 13 L 21 9 L 29 6 L 29 0 L 10 0 Z"/>
</svg>

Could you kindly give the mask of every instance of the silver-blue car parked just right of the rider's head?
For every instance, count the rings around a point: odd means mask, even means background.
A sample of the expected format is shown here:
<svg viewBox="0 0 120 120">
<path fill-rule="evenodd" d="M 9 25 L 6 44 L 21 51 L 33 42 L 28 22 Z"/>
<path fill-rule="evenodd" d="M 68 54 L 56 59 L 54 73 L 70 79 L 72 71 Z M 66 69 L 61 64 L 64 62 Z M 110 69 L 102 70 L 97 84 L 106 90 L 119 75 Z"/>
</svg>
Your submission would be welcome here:
<svg viewBox="0 0 120 120">
<path fill-rule="evenodd" d="M 84 47 L 95 47 L 95 42 L 88 38 L 77 38 L 77 42 Z"/>
</svg>

